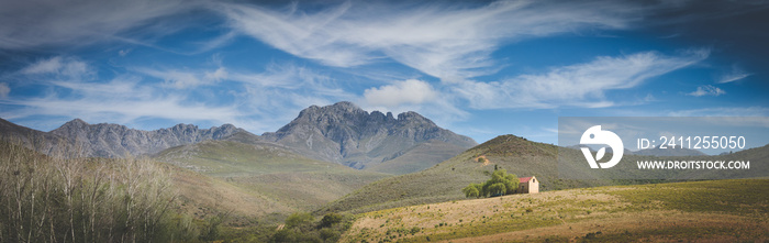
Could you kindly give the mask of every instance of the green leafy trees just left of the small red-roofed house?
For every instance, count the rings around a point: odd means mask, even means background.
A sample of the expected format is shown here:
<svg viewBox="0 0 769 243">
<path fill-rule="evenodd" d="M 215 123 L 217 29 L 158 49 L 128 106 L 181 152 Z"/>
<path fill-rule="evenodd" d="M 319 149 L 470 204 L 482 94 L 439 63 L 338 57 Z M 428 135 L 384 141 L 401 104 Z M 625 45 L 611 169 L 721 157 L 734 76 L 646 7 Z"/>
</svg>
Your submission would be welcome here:
<svg viewBox="0 0 769 243">
<path fill-rule="evenodd" d="M 470 184 L 462 188 L 465 197 L 497 197 L 515 194 L 519 188 L 519 178 L 513 174 L 508 174 L 505 169 L 497 169 L 491 174 L 491 179 L 483 184 Z"/>
</svg>

